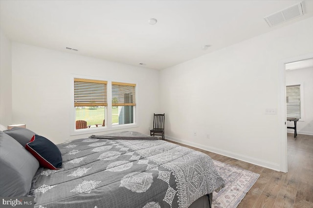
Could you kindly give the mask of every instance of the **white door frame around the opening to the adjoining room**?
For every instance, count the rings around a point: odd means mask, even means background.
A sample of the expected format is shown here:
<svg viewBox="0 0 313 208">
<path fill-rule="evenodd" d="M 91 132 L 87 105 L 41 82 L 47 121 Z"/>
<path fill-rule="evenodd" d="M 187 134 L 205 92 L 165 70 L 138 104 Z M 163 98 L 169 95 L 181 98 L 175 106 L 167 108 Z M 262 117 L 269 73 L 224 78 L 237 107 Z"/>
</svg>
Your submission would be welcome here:
<svg viewBox="0 0 313 208">
<path fill-rule="evenodd" d="M 307 59 L 313 59 L 313 53 L 303 54 L 300 56 L 291 57 L 281 60 L 279 63 L 279 154 L 280 154 L 280 171 L 288 172 L 287 160 L 287 118 L 286 118 L 286 63 L 298 62 Z"/>
</svg>

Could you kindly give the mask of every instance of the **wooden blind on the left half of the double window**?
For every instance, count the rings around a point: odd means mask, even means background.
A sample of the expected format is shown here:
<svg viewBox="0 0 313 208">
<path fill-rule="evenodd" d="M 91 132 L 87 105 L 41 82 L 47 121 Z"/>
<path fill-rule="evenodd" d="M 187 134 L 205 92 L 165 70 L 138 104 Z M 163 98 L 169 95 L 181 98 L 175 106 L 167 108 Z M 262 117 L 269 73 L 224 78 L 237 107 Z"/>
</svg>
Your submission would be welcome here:
<svg viewBox="0 0 313 208">
<path fill-rule="evenodd" d="M 74 79 L 74 106 L 107 106 L 107 81 Z"/>
</svg>

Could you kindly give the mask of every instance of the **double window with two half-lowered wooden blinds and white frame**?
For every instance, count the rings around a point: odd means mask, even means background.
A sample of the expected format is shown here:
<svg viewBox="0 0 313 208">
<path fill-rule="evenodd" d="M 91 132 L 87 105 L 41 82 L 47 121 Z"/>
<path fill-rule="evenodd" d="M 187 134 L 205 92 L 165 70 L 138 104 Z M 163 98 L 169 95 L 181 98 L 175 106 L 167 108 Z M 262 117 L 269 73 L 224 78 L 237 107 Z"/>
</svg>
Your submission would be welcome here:
<svg viewBox="0 0 313 208">
<path fill-rule="evenodd" d="M 72 79 L 71 135 L 137 126 L 135 83 Z"/>
</svg>

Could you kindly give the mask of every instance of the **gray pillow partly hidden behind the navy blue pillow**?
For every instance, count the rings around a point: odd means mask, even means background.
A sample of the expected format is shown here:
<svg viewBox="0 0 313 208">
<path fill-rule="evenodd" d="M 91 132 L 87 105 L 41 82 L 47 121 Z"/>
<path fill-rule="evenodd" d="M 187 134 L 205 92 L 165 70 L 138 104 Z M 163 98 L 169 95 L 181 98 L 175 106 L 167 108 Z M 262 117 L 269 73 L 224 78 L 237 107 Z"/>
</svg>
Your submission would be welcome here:
<svg viewBox="0 0 313 208">
<path fill-rule="evenodd" d="M 25 147 L 26 144 L 29 143 L 31 138 L 34 136 L 34 134 L 36 134 L 27 128 L 21 128 L 21 127 L 13 127 L 11 129 L 5 130 L 3 132 L 10 135 L 11 137 L 13 137 L 23 147 Z"/>
</svg>

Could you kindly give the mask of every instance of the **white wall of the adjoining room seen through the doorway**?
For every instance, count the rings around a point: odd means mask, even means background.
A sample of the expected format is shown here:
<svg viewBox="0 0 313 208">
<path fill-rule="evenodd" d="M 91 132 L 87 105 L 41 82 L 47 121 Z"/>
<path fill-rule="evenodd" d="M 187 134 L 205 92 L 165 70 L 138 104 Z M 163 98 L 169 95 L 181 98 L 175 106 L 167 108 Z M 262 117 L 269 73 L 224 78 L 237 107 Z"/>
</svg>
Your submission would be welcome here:
<svg viewBox="0 0 313 208">
<path fill-rule="evenodd" d="M 297 122 L 297 133 L 313 135 L 313 67 L 286 71 L 286 85 L 301 85 L 303 104 L 301 111 L 303 115 Z M 293 127 L 293 122 L 288 122 Z M 293 133 L 293 129 L 288 129 Z"/>
</svg>

